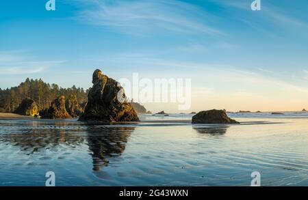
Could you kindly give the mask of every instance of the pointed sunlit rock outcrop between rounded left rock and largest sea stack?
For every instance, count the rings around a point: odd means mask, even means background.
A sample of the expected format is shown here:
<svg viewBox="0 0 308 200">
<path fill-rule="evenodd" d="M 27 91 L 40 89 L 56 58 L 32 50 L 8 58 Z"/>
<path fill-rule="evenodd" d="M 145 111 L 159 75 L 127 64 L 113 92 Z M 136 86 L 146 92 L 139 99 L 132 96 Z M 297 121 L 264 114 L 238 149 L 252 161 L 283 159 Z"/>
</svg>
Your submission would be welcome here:
<svg viewBox="0 0 308 200">
<path fill-rule="evenodd" d="M 49 109 L 40 112 L 43 119 L 66 119 L 71 118 L 65 108 L 65 97 L 59 96 L 53 102 Z"/>
</svg>

